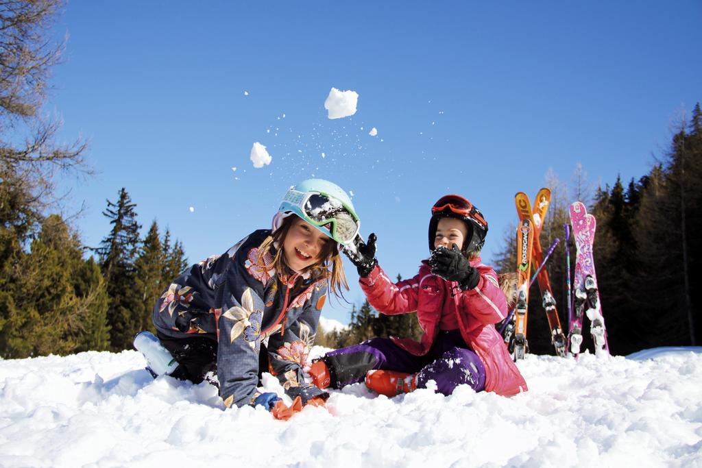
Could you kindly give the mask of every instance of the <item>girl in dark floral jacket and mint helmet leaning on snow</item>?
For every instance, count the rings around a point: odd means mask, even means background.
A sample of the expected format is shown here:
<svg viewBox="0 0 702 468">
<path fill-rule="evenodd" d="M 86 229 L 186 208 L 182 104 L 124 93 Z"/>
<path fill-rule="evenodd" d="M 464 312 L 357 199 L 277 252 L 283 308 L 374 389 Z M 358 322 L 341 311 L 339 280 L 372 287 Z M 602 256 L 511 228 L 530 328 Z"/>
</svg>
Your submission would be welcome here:
<svg viewBox="0 0 702 468">
<path fill-rule="evenodd" d="M 285 417 L 324 403 L 328 394 L 305 383 L 303 370 L 327 291 L 348 288 L 340 248 L 358 226 L 340 187 L 305 180 L 288 190 L 272 229 L 178 276 L 152 312 L 161 345 L 179 364 L 171 375 L 198 383 L 216 371 L 227 408 L 261 404 Z M 277 375 L 291 408 L 257 391 L 263 370 Z"/>
</svg>

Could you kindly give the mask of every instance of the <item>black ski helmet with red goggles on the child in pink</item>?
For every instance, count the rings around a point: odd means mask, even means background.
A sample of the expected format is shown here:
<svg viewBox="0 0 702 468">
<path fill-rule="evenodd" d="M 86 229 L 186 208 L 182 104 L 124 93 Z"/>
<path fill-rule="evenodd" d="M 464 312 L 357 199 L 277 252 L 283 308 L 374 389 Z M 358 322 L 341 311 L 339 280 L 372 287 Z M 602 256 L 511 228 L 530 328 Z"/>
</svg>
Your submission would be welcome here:
<svg viewBox="0 0 702 468">
<path fill-rule="evenodd" d="M 468 235 L 463 253 L 479 252 L 485 243 L 487 221 L 479 209 L 459 195 L 444 195 L 432 206 L 432 219 L 429 221 L 429 250 L 434 250 L 434 239 L 441 218 L 462 220 L 468 227 Z"/>
</svg>

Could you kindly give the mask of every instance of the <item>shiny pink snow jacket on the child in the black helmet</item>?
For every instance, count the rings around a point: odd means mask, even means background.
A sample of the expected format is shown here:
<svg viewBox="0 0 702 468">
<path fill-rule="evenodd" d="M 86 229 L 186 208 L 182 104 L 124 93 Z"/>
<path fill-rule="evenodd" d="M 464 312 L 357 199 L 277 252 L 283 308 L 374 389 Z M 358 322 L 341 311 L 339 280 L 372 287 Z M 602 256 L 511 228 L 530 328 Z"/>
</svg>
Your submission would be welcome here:
<svg viewBox="0 0 702 468">
<path fill-rule="evenodd" d="M 465 291 L 456 281 L 445 281 L 431 274 L 426 261 L 409 280 L 392 283 L 378 266 L 359 282 L 378 312 L 388 315 L 417 312 L 424 330 L 421 341 L 392 337 L 399 347 L 416 356 L 427 354 L 439 333 L 442 314 L 456 314 L 463 340 L 485 366 L 485 390 L 499 395 L 526 392 L 527 382 L 494 326 L 508 315 L 507 300 L 497 274 L 492 267 L 482 265 L 480 258 L 471 260 L 470 266 L 478 269 L 480 280 L 475 288 Z"/>
</svg>

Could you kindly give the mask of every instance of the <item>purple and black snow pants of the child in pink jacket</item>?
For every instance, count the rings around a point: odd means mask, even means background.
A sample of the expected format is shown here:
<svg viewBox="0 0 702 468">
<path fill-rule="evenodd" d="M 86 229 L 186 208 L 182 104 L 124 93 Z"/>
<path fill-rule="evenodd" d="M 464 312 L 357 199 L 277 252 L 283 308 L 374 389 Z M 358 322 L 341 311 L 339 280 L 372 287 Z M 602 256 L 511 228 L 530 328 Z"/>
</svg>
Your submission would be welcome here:
<svg viewBox="0 0 702 468">
<path fill-rule="evenodd" d="M 373 369 L 417 373 L 417 387 L 425 388 L 429 380 L 437 390 L 450 395 L 461 384 L 476 392 L 485 389 L 485 368 L 475 352 L 468 349 L 458 330 L 441 330 L 425 356 L 415 356 L 395 345 L 389 338 L 373 338 L 359 345 L 336 349 L 324 355 L 331 374 L 331 386 L 363 382 Z"/>
</svg>

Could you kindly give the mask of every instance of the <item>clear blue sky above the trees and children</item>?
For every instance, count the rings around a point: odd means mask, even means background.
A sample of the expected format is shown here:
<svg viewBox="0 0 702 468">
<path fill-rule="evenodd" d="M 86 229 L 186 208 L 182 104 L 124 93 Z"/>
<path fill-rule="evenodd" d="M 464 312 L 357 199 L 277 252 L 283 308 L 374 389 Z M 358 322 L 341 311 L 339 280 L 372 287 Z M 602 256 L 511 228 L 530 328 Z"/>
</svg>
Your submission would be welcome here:
<svg viewBox="0 0 702 468">
<path fill-rule="evenodd" d="M 61 182 L 86 201 L 87 245 L 126 187 L 145 228 L 168 226 L 197 262 L 269 227 L 314 175 L 352 190 L 392 276 L 428 255 L 446 193 L 483 211 L 490 262 L 515 192 L 533 196 L 550 169 L 569 181 L 577 163 L 595 184 L 639 178 L 702 100 L 698 1 L 194 5 L 73 0 L 55 25 L 68 41 L 47 110 L 62 138 L 88 138 L 98 173 Z M 354 116 L 327 119 L 332 87 L 359 93 Z M 253 142 L 269 166 L 253 168 Z M 347 322 L 330 302 L 324 315 Z"/>
</svg>

